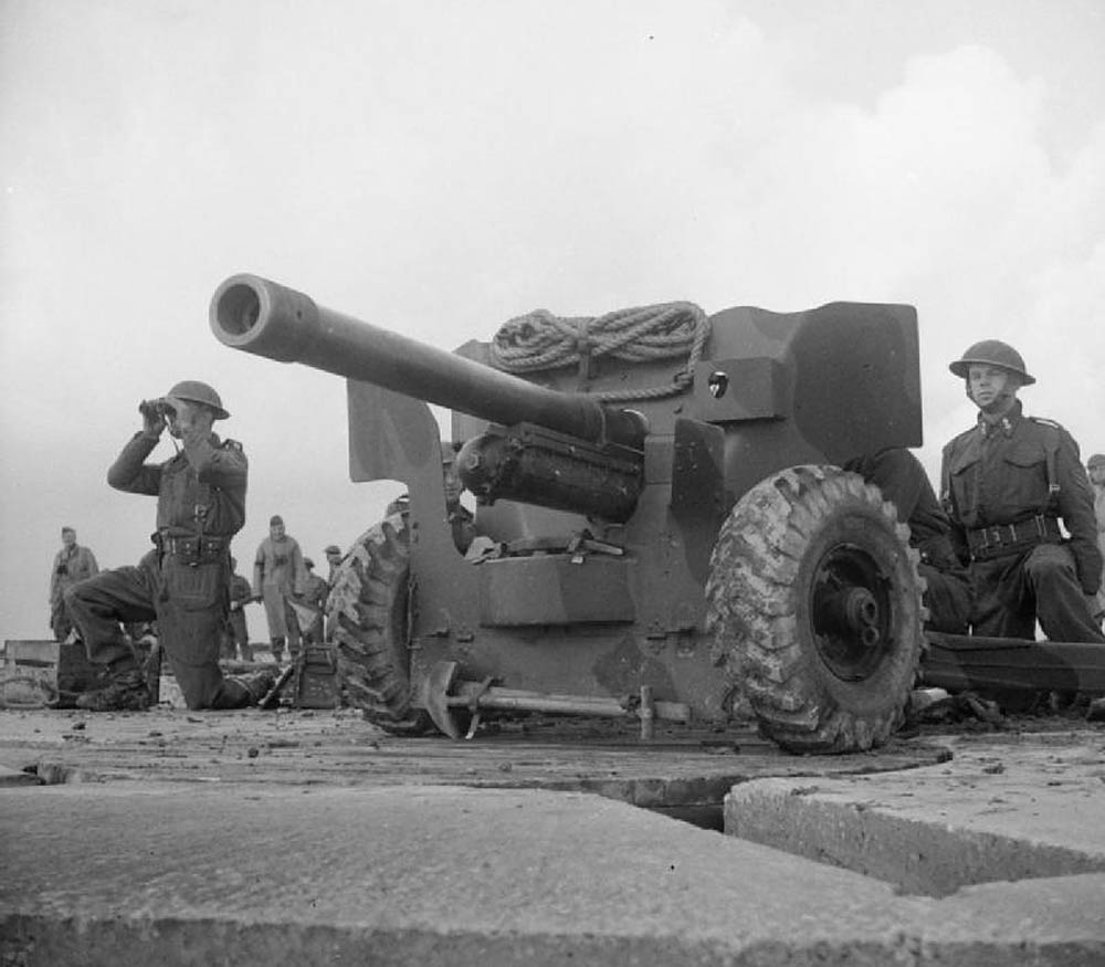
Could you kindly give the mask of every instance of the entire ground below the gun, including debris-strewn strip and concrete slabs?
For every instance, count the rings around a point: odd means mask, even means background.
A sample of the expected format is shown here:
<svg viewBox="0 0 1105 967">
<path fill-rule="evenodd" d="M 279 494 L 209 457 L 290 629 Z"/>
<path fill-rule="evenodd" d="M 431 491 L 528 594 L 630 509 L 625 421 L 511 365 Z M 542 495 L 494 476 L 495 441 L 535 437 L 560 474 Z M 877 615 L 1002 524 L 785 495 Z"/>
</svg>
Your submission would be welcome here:
<svg viewBox="0 0 1105 967">
<path fill-rule="evenodd" d="M 0 713 L 0 965 L 1105 963 L 1101 726 L 885 759 L 582 738 Z M 718 778 L 729 834 L 632 805 Z"/>
</svg>

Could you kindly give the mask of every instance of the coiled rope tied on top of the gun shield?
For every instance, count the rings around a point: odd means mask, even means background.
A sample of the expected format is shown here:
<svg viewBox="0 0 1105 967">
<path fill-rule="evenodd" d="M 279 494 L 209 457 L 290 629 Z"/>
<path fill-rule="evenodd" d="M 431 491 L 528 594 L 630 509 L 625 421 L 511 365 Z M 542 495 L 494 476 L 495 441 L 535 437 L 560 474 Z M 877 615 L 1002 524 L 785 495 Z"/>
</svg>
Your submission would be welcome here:
<svg viewBox="0 0 1105 967">
<path fill-rule="evenodd" d="M 491 344 L 491 361 L 506 372 L 533 372 L 586 365 L 602 356 L 653 362 L 686 354 L 686 366 L 667 386 L 592 393 L 601 400 L 661 399 L 691 386 L 708 336 L 706 313 L 693 302 L 618 309 L 598 317 L 555 316 L 548 309 L 534 309 L 499 327 Z"/>
</svg>

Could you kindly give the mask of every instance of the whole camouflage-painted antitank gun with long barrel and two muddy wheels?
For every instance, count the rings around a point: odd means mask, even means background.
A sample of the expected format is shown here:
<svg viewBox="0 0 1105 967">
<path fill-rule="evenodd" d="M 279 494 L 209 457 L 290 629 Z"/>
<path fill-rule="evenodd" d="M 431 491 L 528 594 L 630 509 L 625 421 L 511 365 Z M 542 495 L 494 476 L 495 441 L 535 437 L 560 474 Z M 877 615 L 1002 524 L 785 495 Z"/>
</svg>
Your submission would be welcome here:
<svg viewBox="0 0 1105 967">
<path fill-rule="evenodd" d="M 254 275 L 219 286 L 218 338 L 346 377 L 351 479 L 409 490 L 332 595 L 344 685 L 372 722 L 471 737 L 495 710 L 636 715 L 648 734 L 750 707 L 806 753 L 867 749 L 901 723 L 924 640 L 917 555 L 840 466 L 920 443 L 915 311 L 660 316 L 691 333 L 681 358 L 589 353 L 578 327 L 578 365 L 522 377 L 492 343 L 448 353 Z M 467 555 L 429 403 L 464 441 Z"/>
</svg>

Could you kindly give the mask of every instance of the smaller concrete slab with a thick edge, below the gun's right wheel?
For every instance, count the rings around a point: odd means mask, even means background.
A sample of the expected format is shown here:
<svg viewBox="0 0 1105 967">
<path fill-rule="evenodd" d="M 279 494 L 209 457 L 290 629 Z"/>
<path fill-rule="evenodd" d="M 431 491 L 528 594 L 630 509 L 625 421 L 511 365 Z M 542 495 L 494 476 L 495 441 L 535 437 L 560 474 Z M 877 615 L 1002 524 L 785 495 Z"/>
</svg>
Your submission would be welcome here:
<svg viewBox="0 0 1105 967">
<path fill-rule="evenodd" d="M 938 766 L 735 787 L 725 830 L 932 895 L 1105 872 L 1105 734 L 948 744 L 954 758 Z"/>
</svg>

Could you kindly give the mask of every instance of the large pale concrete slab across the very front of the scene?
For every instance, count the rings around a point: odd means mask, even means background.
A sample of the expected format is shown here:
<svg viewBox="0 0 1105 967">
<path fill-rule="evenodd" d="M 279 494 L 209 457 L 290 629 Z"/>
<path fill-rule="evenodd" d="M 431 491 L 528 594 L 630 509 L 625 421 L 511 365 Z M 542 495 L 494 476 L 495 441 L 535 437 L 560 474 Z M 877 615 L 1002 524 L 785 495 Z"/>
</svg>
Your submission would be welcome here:
<svg viewBox="0 0 1105 967">
<path fill-rule="evenodd" d="M 1105 959 L 1105 874 L 894 889 L 524 789 L 0 790 L 0 963 L 1017 965 Z"/>
</svg>

